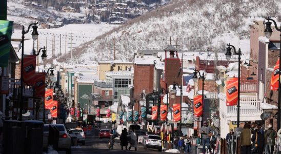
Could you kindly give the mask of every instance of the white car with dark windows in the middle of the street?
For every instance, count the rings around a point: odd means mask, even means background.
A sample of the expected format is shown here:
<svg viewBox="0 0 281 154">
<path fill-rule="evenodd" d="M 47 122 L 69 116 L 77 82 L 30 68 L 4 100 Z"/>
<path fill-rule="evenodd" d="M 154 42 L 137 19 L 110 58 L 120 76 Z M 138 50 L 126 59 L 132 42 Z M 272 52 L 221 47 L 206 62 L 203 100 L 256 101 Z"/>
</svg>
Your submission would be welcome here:
<svg viewBox="0 0 281 154">
<path fill-rule="evenodd" d="M 154 148 L 162 151 L 162 141 L 160 136 L 148 135 L 144 143 L 144 148 Z"/>
</svg>

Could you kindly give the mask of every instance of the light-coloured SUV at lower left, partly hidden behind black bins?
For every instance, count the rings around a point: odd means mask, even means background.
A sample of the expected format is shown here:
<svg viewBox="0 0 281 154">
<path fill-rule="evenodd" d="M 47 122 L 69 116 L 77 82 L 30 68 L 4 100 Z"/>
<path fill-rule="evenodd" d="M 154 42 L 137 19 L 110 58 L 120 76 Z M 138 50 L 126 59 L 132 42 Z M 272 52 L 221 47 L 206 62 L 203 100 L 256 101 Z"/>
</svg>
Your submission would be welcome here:
<svg viewBox="0 0 281 154">
<path fill-rule="evenodd" d="M 43 132 L 43 148 L 48 148 L 49 127 L 55 126 L 59 130 L 58 150 L 65 150 L 67 154 L 71 154 L 71 138 L 63 124 L 45 124 Z"/>
</svg>

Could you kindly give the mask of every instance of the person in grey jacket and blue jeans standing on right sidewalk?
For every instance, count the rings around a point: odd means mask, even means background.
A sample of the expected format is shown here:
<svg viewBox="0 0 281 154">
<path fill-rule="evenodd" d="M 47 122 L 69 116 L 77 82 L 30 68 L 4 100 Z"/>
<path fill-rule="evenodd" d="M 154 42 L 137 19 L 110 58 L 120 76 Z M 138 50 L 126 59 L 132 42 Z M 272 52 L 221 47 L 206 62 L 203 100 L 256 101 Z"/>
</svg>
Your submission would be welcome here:
<svg viewBox="0 0 281 154">
<path fill-rule="evenodd" d="M 202 135 L 202 143 L 203 143 L 203 153 L 206 153 L 206 144 L 207 148 L 209 149 L 209 153 L 211 152 L 211 147 L 210 147 L 210 139 L 213 134 L 213 129 L 208 126 L 207 121 L 203 122 L 204 126 L 201 128 L 201 135 Z"/>
</svg>

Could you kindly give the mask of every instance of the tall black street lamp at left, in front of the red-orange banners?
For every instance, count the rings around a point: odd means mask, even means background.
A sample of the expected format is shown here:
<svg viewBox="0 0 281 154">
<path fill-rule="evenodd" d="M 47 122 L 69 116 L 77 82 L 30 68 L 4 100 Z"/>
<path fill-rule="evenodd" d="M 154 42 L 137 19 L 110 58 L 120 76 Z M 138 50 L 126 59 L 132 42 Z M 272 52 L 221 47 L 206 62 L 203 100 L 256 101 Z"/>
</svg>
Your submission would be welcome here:
<svg viewBox="0 0 281 154">
<path fill-rule="evenodd" d="M 34 22 L 32 24 L 30 24 L 28 26 L 27 31 L 25 31 L 25 27 L 23 26 L 23 30 L 22 30 L 22 62 L 21 62 L 21 103 L 19 105 L 19 120 L 22 121 L 23 120 L 23 108 L 24 108 L 24 98 L 23 98 L 23 89 L 24 89 L 24 79 L 23 79 L 23 73 L 24 73 L 24 41 L 25 41 L 25 34 L 29 32 L 30 27 L 32 25 L 33 31 L 31 33 L 32 35 L 32 39 L 35 41 L 38 38 L 38 32 L 37 32 L 37 25 L 38 23 Z"/>
</svg>

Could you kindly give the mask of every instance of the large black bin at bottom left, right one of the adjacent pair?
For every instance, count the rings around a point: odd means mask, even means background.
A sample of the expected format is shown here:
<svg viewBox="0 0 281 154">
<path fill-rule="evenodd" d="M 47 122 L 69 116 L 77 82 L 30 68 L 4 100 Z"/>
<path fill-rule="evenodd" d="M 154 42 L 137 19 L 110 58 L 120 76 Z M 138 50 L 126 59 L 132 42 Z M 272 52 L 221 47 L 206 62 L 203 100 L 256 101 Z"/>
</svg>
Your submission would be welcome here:
<svg viewBox="0 0 281 154">
<path fill-rule="evenodd" d="M 42 154 L 43 153 L 43 129 L 44 123 L 36 120 L 26 120 L 22 122 L 24 130 L 25 153 Z"/>
</svg>

